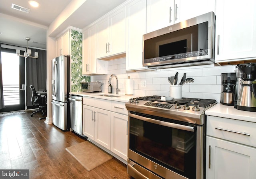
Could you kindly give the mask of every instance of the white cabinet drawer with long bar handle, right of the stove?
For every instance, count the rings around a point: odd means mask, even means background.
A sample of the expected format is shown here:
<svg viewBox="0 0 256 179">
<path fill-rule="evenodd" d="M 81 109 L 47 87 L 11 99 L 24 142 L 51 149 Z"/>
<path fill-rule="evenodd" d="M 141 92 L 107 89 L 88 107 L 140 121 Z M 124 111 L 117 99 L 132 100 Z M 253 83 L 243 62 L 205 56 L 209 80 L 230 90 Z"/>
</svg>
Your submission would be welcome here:
<svg viewBox="0 0 256 179">
<path fill-rule="evenodd" d="M 256 147 L 256 123 L 207 116 L 206 134 Z"/>
</svg>

